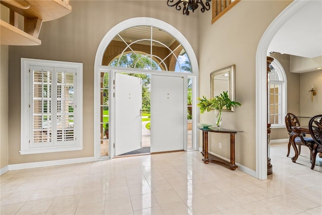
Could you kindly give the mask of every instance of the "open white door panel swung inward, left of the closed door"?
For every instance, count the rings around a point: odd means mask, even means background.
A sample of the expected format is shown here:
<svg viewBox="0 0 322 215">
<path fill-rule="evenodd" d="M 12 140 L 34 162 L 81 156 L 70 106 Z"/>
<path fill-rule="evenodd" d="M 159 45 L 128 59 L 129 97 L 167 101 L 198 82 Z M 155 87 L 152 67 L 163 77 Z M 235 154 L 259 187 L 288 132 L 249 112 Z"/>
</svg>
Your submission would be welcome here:
<svg viewBox="0 0 322 215">
<path fill-rule="evenodd" d="M 115 73 L 115 155 L 141 148 L 142 81 Z"/>
</svg>

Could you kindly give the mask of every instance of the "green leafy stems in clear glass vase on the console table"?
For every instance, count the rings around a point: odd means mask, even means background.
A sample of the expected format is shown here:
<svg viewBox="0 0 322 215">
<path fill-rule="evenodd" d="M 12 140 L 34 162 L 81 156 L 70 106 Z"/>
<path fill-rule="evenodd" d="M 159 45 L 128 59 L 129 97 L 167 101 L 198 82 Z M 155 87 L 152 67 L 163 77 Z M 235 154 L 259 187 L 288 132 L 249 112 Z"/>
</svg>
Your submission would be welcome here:
<svg viewBox="0 0 322 215">
<path fill-rule="evenodd" d="M 211 99 L 207 99 L 203 96 L 202 98 L 198 97 L 198 100 L 199 103 L 197 105 L 200 109 L 200 113 L 204 113 L 205 111 L 209 112 L 213 109 L 215 110 L 217 127 L 220 127 L 221 124 L 221 112 L 223 107 L 230 109 L 231 107 L 237 108 L 237 106 L 241 106 L 239 102 L 230 101 L 227 91 L 223 91 L 219 96 Z"/>
</svg>

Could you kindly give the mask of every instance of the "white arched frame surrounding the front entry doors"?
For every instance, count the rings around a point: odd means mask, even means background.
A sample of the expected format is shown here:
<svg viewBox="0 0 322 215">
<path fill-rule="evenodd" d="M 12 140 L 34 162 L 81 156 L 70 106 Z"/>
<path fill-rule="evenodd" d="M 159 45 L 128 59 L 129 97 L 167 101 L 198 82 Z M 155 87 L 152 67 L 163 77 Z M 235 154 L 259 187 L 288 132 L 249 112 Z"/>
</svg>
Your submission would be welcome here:
<svg viewBox="0 0 322 215">
<path fill-rule="evenodd" d="M 95 63 L 94 63 L 94 158 L 95 160 L 99 160 L 100 159 L 100 127 L 99 127 L 99 120 L 100 120 L 100 72 L 101 71 L 108 71 L 110 72 L 109 75 L 109 80 L 114 80 L 113 74 L 111 73 L 112 70 L 116 70 L 116 67 L 111 67 L 111 66 L 104 66 L 102 65 L 102 59 L 103 59 L 103 55 L 105 52 L 105 49 L 107 48 L 107 46 L 109 45 L 109 43 L 113 40 L 113 38 L 115 37 L 116 34 L 118 34 L 119 32 L 130 28 L 130 27 L 134 27 L 134 26 L 141 26 L 141 25 L 149 25 L 149 26 L 154 26 L 157 27 L 159 29 L 162 29 L 164 31 L 167 31 L 168 33 L 170 33 L 179 43 L 182 44 L 183 48 L 186 50 L 187 55 L 189 56 L 190 59 L 190 63 L 191 63 L 191 68 L 193 73 L 180 73 L 181 76 L 184 77 L 194 77 L 195 78 L 195 85 L 193 88 L 193 104 L 194 104 L 194 108 L 193 108 L 193 127 L 197 127 L 197 122 L 199 121 L 199 112 L 197 112 L 198 108 L 197 108 L 197 96 L 199 95 L 199 67 L 198 67 L 198 61 L 197 61 L 197 57 L 194 53 L 194 50 L 192 48 L 192 46 L 190 45 L 190 43 L 188 42 L 188 40 L 183 36 L 183 34 L 178 31 L 176 28 L 174 28 L 173 26 L 171 26 L 170 24 L 161 21 L 161 20 L 157 20 L 154 18 L 148 18 L 148 17 L 136 17 L 136 18 L 131 18 L 128 20 L 125 20 L 117 25 L 115 25 L 113 28 L 110 29 L 109 32 L 107 32 L 107 34 L 104 36 L 104 38 L 102 39 L 97 52 L 96 52 L 96 56 L 95 56 Z M 126 68 L 122 68 L 122 70 L 126 70 Z M 128 70 L 131 73 L 133 73 L 133 71 L 140 71 L 138 73 L 142 73 L 142 70 L 139 69 L 130 69 Z M 146 70 L 145 70 L 146 72 Z M 153 74 L 153 70 L 149 70 L 149 74 Z M 163 74 L 166 73 L 167 75 L 170 74 L 178 74 L 178 73 L 171 73 L 168 71 L 157 71 L 157 74 Z M 187 78 L 186 78 L 187 79 Z M 111 84 L 111 82 L 109 82 Z M 111 86 L 111 85 L 110 85 Z M 112 88 L 109 88 L 112 89 Z M 112 94 L 110 94 L 112 95 Z M 187 99 L 187 98 L 186 98 Z M 110 114 L 114 114 L 113 113 L 113 99 L 110 99 L 110 104 L 109 106 L 111 107 L 110 110 Z M 115 121 L 113 121 L 113 119 L 110 119 L 110 123 L 115 123 Z M 109 146 L 113 146 L 114 144 L 114 133 L 113 133 L 113 128 L 110 130 L 110 134 L 111 134 L 111 138 L 109 139 Z M 193 142 L 194 142 L 194 148 L 196 150 L 198 150 L 198 146 L 199 146 L 199 132 L 196 131 L 196 129 L 194 130 L 193 133 Z M 114 150 L 111 150 L 111 148 L 109 149 L 109 153 L 110 153 L 110 158 L 114 157 Z"/>
</svg>

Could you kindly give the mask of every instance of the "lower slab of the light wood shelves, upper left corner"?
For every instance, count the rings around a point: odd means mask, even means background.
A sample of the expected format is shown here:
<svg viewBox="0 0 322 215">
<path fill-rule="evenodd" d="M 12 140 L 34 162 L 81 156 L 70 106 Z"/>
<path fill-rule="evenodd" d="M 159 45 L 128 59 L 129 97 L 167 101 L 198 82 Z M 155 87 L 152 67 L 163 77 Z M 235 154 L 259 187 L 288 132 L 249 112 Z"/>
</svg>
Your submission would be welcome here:
<svg viewBox="0 0 322 215">
<path fill-rule="evenodd" d="M 1 24 L 1 44 L 2 45 L 40 45 L 41 40 L 16 28 L 3 20 Z"/>
</svg>

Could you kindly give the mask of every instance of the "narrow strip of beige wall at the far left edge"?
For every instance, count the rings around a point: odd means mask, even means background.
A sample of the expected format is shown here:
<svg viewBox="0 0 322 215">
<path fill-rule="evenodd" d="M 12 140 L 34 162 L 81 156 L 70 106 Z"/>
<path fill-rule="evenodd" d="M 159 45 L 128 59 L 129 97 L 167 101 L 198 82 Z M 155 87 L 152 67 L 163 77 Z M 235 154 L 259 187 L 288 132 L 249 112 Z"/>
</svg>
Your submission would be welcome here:
<svg viewBox="0 0 322 215">
<path fill-rule="evenodd" d="M 8 21 L 8 10 L 0 6 L 1 19 Z M 8 45 L 0 46 L 0 169 L 8 165 Z"/>
</svg>

